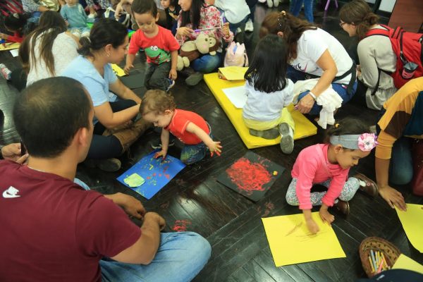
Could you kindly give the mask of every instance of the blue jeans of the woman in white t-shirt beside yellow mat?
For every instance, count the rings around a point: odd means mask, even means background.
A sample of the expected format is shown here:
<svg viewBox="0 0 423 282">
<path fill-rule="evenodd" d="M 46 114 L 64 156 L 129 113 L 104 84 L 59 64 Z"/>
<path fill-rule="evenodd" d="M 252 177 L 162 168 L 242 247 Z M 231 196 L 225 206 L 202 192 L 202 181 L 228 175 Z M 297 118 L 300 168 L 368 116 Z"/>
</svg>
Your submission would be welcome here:
<svg viewBox="0 0 423 282">
<path fill-rule="evenodd" d="M 305 80 L 305 76 L 307 75 L 307 73 L 303 73 L 302 71 L 297 71 L 295 70 L 295 68 L 293 68 L 292 66 L 288 66 L 287 70 L 286 70 L 286 75 L 288 76 L 288 78 L 290 78 L 290 80 L 293 80 L 293 82 L 297 82 L 298 80 Z M 353 91 L 351 91 L 350 94 L 348 94 L 347 92 L 347 86 L 348 85 L 344 85 L 341 83 L 336 83 L 333 82 L 332 83 L 332 88 L 333 90 L 336 91 L 336 93 L 339 94 L 339 96 L 342 98 L 342 104 L 345 104 L 346 102 L 350 101 L 351 98 L 353 98 L 354 94 L 355 94 L 355 90 L 357 90 L 357 80 L 354 83 L 353 86 Z M 300 101 L 300 99 L 302 99 L 302 97 L 305 97 L 305 95 L 307 95 L 309 91 L 305 91 L 300 93 L 300 95 L 298 95 L 298 101 Z M 312 109 L 309 111 L 310 115 L 313 116 L 317 116 L 321 111 L 321 106 L 319 106 L 317 103 L 314 103 Z"/>
</svg>

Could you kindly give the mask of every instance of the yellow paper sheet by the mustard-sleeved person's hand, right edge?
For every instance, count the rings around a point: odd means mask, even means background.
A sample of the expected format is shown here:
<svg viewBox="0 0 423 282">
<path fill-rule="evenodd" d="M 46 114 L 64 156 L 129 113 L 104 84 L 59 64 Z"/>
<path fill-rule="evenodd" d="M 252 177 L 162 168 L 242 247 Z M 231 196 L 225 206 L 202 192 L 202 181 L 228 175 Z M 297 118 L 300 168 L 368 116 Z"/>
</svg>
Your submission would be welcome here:
<svg viewBox="0 0 423 282">
<path fill-rule="evenodd" d="M 407 204 L 407 212 L 396 208 L 408 240 L 419 252 L 423 252 L 423 205 Z"/>
</svg>

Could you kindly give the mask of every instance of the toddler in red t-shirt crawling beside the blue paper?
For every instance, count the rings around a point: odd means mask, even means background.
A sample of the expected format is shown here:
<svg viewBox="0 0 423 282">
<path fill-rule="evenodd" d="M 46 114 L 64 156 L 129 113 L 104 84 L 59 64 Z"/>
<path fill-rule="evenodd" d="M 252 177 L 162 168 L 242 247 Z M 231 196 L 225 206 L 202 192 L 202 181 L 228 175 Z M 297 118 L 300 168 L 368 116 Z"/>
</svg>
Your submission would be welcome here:
<svg viewBox="0 0 423 282">
<path fill-rule="evenodd" d="M 176 109 L 173 97 L 161 90 L 148 90 L 142 99 L 140 113 L 145 121 L 161 127 L 161 151 L 154 157 L 166 157 L 169 143 L 169 132 L 175 135 L 185 146 L 180 152 L 180 161 L 194 164 L 206 156 L 220 156 L 221 142 L 213 141 L 209 123 L 192 111 Z"/>
</svg>

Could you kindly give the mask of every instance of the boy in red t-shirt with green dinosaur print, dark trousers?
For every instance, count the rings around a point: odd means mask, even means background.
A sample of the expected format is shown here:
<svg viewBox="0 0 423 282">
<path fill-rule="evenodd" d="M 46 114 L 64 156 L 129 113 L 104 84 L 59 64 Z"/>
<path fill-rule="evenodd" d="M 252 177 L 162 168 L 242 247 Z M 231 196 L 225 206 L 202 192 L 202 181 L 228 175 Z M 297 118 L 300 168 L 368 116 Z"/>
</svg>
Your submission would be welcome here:
<svg viewBox="0 0 423 282">
<path fill-rule="evenodd" d="M 159 13 L 154 0 L 134 0 L 132 11 L 140 29 L 130 39 L 124 71 L 129 73 L 137 51 L 144 49 L 148 63 L 145 87 L 167 92 L 175 85 L 179 44 L 170 30 L 157 25 Z"/>
</svg>

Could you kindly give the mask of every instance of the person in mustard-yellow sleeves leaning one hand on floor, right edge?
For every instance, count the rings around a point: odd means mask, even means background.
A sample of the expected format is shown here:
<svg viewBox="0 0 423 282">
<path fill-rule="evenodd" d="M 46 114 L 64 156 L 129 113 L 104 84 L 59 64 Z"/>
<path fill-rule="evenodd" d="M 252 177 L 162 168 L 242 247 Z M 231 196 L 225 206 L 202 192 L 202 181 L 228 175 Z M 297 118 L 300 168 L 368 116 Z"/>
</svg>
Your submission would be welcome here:
<svg viewBox="0 0 423 282">
<path fill-rule="evenodd" d="M 378 142 L 376 147 L 376 181 L 379 194 L 393 208 L 405 210 L 403 195 L 389 183 L 405 185 L 414 174 L 412 166 L 412 142 L 423 139 L 423 77 L 407 82 L 384 104 L 384 116 L 379 120 Z M 422 142 L 417 143 L 422 152 Z M 421 153 L 420 153 L 421 154 Z M 423 195 L 422 183 L 413 188 L 417 195 Z"/>
</svg>

